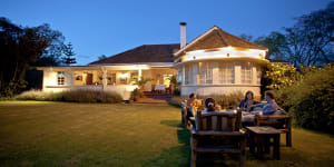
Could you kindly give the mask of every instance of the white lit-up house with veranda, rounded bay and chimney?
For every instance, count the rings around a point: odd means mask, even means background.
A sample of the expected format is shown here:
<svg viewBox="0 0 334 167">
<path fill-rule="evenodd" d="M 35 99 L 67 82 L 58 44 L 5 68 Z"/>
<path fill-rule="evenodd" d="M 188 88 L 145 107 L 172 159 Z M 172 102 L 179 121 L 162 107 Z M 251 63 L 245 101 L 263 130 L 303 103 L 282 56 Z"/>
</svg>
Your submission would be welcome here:
<svg viewBox="0 0 334 167">
<path fill-rule="evenodd" d="M 144 45 L 88 66 L 39 69 L 43 70 L 43 91 L 95 89 L 129 99 L 138 88 L 136 79 L 149 78 L 144 91 L 151 91 L 169 87 L 169 77 L 177 75 L 181 96 L 247 90 L 259 96 L 267 51 L 216 26 L 186 43 L 186 23 L 181 22 L 180 45 Z"/>
</svg>

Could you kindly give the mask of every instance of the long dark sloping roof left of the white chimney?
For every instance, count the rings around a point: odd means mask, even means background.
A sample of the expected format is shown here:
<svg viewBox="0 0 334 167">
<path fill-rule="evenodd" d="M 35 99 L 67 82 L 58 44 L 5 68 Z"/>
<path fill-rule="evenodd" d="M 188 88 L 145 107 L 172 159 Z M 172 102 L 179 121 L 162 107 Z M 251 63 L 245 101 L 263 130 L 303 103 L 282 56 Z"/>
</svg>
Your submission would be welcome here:
<svg viewBox="0 0 334 167">
<path fill-rule="evenodd" d="M 173 62 L 173 53 L 179 50 L 179 45 L 144 45 L 106 59 L 90 62 L 100 63 L 137 63 L 137 62 Z"/>
</svg>

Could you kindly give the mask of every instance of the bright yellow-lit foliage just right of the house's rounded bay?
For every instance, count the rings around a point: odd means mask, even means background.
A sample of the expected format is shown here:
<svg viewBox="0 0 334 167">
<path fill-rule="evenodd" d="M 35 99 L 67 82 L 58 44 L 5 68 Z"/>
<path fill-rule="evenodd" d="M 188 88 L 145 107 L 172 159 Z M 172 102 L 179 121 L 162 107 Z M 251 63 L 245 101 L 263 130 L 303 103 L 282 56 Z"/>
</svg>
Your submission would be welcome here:
<svg viewBox="0 0 334 167">
<path fill-rule="evenodd" d="M 262 84 L 265 89 L 282 89 L 292 86 L 297 77 L 296 68 L 293 65 L 268 63 L 264 70 Z"/>
</svg>

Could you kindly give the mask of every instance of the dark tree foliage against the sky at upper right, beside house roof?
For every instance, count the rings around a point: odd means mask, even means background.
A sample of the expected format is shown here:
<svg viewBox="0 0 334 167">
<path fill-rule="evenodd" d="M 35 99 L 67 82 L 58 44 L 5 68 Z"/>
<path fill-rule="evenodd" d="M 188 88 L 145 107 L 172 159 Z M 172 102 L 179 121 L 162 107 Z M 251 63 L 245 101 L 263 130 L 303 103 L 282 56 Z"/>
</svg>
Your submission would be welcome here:
<svg viewBox="0 0 334 167">
<path fill-rule="evenodd" d="M 256 43 L 268 48 L 269 59 L 299 65 L 322 65 L 334 61 L 334 2 L 326 9 L 296 18 L 296 23 L 284 32 L 259 37 Z"/>
</svg>

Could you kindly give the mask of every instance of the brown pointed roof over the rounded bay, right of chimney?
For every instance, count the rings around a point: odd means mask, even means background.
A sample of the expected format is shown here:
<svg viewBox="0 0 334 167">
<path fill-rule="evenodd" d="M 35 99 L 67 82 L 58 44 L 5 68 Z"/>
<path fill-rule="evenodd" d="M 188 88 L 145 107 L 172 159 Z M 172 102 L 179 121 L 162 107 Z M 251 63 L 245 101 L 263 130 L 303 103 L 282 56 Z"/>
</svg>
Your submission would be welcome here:
<svg viewBox="0 0 334 167">
<path fill-rule="evenodd" d="M 267 50 L 267 48 L 252 43 L 242 38 L 233 36 L 223 31 L 217 26 L 214 26 L 208 31 L 203 33 L 202 36 L 194 39 L 186 47 L 181 48 L 175 55 L 179 56 L 181 52 L 193 51 L 193 50 L 203 50 L 203 49 L 214 49 L 214 48 L 223 48 L 223 47 L 237 47 L 245 49 L 259 49 Z"/>
</svg>

